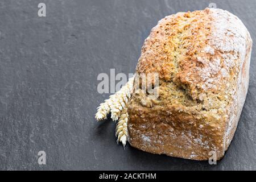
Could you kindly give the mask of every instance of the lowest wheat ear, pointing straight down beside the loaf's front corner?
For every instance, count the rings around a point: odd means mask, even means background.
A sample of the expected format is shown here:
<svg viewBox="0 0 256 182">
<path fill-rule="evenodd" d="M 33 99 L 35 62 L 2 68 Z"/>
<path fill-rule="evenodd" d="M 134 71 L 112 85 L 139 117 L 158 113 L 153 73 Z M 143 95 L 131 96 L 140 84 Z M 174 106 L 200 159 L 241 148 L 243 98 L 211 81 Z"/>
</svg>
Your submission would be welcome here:
<svg viewBox="0 0 256 182">
<path fill-rule="evenodd" d="M 127 121 L 128 121 L 128 113 L 127 107 L 125 107 L 120 114 L 120 118 L 118 119 L 117 126 L 115 127 L 115 137 L 117 137 L 117 143 L 122 142 L 123 147 L 125 147 L 127 142 Z"/>
</svg>

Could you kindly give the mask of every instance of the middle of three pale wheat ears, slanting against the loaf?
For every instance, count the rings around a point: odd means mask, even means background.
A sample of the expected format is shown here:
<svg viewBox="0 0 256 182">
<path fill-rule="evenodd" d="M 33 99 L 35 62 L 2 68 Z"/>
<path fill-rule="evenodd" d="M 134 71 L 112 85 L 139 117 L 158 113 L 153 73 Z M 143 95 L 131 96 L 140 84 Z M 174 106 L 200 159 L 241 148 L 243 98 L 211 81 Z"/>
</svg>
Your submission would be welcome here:
<svg viewBox="0 0 256 182">
<path fill-rule="evenodd" d="M 113 102 L 110 105 L 111 118 L 113 121 L 118 120 L 121 111 L 130 100 L 131 90 L 133 88 L 133 80 L 134 77 L 129 78 L 129 81 L 124 86 L 122 86 L 122 88 L 117 93 L 115 93 Z"/>
</svg>

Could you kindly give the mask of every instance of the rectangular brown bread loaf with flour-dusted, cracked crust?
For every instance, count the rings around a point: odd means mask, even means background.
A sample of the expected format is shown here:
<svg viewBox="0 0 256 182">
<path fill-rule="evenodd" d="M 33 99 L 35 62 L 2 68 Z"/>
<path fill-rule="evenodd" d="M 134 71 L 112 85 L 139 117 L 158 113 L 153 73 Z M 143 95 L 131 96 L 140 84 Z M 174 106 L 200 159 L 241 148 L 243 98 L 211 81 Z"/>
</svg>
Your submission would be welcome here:
<svg viewBox="0 0 256 182">
<path fill-rule="evenodd" d="M 131 97 L 131 146 L 153 154 L 208 160 L 224 156 L 249 83 L 252 40 L 237 16 L 205 9 L 166 16 L 152 28 L 136 76 L 158 73 L 159 96 Z"/>
</svg>

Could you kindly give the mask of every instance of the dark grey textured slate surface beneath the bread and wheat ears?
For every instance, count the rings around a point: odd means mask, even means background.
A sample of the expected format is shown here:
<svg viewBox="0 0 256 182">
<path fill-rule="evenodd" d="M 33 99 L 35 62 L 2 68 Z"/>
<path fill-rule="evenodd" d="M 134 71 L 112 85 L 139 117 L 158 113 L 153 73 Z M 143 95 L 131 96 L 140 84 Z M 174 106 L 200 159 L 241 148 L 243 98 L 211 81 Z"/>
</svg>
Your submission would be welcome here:
<svg viewBox="0 0 256 182">
<path fill-rule="evenodd" d="M 46 18 L 38 17 L 45 2 Z M 99 73 L 133 73 L 159 19 L 209 3 L 240 17 L 255 41 L 256 1 L 0 1 L 0 169 L 256 169 L 255 46 L 249 93 L 233 142 L 216 166 L 117 145 L 94 120 L 109 94 Z M 46 151 L 46 165 L 38 151 Z"/>
</svg>

